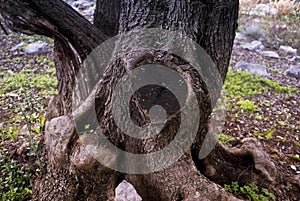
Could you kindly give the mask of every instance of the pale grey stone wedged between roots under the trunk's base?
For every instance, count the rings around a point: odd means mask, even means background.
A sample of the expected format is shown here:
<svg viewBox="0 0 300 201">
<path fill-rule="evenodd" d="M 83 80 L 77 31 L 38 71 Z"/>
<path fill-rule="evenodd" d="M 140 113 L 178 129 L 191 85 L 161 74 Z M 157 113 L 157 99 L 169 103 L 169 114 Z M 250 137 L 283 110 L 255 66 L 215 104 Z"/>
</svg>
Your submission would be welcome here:
<svg viewBox="0 0 300 201">
<path fill-rule="evenodd" d="M 133 185 L 126 180 L 123 180 L 116 188 L 115 201 L 141 201 L 142 198 L 136 192 Z"/>
</svg>

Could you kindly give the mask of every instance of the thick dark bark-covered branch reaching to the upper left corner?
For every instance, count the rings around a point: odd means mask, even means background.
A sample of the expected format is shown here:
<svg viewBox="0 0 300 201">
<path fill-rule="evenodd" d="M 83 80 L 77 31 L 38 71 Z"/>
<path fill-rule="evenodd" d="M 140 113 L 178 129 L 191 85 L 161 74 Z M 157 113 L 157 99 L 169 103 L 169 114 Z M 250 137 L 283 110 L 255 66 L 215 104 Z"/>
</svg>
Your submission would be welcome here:
<svg viewBox="0 0 300 201">
<path fill-rule="evenodd" d="M 85 58 L 106 36 L 61 0 L 1 0 L 0 12 L 14 31 L 57 37 Z"/>
</svg>

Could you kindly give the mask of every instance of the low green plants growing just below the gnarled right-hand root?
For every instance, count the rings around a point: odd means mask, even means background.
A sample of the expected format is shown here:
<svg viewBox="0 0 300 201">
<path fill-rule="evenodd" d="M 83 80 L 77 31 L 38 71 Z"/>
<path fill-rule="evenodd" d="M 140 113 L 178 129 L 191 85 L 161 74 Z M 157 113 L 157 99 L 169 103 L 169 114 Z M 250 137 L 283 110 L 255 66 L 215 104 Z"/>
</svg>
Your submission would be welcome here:
<svg viewBox="0 0 300 201">
<path fill-rule="evenodd" d="M 234 196 L 251 201 L 272 201 L 276 197 L 268 189 L 260 188 L 255 184 L 240 186 L 237 181 L 225 184 L 224 188 Z"/>
</svg>

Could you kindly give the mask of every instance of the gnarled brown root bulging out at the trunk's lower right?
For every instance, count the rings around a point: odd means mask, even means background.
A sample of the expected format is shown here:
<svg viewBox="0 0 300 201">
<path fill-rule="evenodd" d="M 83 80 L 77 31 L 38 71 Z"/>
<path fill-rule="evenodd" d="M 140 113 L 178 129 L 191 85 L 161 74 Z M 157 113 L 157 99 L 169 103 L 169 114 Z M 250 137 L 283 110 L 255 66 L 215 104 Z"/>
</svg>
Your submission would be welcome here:
<svg viewBox="0 0 300 201">
<path fill-rule="evenodd" d="M 221 185 L 238 181 L 267 187 L 277 175 L 274 163 L 255 138 L 245 138 L 232 148 L 217 144 L 207 158 L 195 162 L 205 176 Z"/>
</svg>

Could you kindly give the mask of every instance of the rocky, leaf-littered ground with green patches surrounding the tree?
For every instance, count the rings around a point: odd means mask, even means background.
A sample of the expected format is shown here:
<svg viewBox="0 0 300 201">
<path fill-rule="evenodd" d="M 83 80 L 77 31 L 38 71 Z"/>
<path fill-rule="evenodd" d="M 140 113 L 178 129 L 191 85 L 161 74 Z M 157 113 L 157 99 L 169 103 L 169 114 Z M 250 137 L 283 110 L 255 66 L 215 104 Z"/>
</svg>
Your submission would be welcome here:
<svg viewBox="0 0 300 201">
<path fill-rule="evenodd" d="M 69 2 L 92 19 L 93 1 Z M 237 139 L 256 137 L 281 175 L 280 184 L 269 190 L 277 200 L 300 200 L 300 14 L 278 17 L 280 10 L 264 5 L 241 9 L 219 139 L 232 146 Z M 6 200 L 26 200 L 45 165 L 43 154 L 36 153 L 42 150 L 43 114 L 55 93 L 53 41 L 0 32 L 0 192 L 9 191 Z"/>
</svg>

